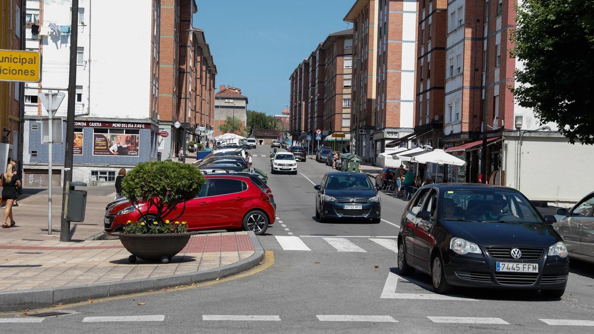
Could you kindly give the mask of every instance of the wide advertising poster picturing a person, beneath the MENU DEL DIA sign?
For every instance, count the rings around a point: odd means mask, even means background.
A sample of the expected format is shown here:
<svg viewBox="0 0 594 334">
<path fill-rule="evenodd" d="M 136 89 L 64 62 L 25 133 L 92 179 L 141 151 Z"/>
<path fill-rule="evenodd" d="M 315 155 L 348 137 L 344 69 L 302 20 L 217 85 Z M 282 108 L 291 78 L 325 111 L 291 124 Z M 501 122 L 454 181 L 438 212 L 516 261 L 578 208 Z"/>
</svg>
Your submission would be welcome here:
<svg viewBox="0 0 594 334">
<path fill-rule="evenodd" d="M 93 155 L 138 156 L 138 134 L 93 134 Z"/>
</svg>

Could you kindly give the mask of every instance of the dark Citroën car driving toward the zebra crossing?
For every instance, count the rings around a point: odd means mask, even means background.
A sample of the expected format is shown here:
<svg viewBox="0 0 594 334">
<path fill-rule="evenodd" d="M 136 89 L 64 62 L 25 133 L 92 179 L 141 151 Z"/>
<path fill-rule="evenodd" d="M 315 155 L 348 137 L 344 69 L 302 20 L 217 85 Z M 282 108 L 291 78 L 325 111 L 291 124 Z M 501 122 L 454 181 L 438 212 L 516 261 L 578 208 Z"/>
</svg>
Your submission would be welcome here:
<svg viewBox="0 0 594 334">
<path fill-rule="evenodd" d="M 380 223 L 381 200 L 364 173 L 332 172 L 315 185 L 315 218 L 364 218 Z"/>
</svg>

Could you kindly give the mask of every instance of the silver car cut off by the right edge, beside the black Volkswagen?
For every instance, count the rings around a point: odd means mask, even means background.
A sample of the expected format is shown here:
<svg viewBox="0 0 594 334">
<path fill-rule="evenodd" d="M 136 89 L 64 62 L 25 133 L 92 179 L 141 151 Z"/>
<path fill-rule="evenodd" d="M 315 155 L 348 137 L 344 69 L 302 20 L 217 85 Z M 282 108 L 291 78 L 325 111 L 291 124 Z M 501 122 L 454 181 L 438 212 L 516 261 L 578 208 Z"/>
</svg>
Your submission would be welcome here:
<svg viewBox="0 0 594 334">
<path fill-rule="evenodd" d="M 594 263 L 594 192 L 570 210 L 557 209 L 555 229 L 565 241 L 569 256 Z"/>
</svg>

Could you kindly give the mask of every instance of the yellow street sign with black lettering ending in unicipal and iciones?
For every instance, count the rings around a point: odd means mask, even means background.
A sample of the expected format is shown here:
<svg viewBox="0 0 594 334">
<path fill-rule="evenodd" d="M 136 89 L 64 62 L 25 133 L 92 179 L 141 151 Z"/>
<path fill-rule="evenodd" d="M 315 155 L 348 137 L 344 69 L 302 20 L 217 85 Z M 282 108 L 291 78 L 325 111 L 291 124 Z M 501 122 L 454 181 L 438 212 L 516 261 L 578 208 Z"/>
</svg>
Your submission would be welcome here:
<svg viewBox="0 0 594 334">
<path fill-rule="evenodd" d="M 40 80 L 39 51 L 0 50 L 0 81 L 37 83 Z"/>
</svg>

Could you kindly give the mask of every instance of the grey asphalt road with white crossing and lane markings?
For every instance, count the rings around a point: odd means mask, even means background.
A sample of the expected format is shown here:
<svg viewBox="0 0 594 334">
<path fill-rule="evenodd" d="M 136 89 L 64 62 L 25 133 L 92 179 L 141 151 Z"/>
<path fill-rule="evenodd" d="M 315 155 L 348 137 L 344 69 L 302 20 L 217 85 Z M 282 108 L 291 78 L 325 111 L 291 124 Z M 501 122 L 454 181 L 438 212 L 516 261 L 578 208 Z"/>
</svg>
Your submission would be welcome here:
<svg viewBox="0 0 594 334">
<path fill-rule="evenodd" d="M 270 149 L 252 150 L 269 170 Z M 5 332 L 592 332 L 594 269 L 573 261 L 561 300 L 538 292 L 459 289 L 434 294 L 428 276 L 402 278 L 396 235 L 405 201 L 382 197 L 382 221 L 319 223 L 314 184 L 331 169 L 313 159 L 298 175 L 269 175 L 277 222 L 259 237 L 272 265 L 208 286 L 113 298 L 68 307 L 40 323 L 5 323 Z M 138 304 L 144 305 L 138 305 Z M 144 316 L 144 317 L 134 317 Z M 115 318 L 102 318 L 115 317 Z M 29 318 L 30 319 L 30 318 Z M 150 320 L 150 321 L 147 321 Z"/>
</svg>

